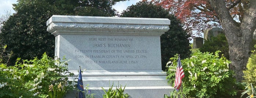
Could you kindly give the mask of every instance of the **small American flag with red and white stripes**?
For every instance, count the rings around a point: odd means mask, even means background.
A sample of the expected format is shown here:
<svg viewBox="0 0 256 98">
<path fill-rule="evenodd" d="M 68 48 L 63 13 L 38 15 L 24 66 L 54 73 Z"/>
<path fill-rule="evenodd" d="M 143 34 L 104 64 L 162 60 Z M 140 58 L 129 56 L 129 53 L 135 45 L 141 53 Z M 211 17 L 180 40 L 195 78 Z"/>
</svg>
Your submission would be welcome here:
<svg viewBox="0 0 256 98">
<path fill-rule="evenodd" d="M 176 69 L 176 76 L 175 76 L 175 82 L 174 82 L 174 88 L 179 90 L 179 87 L 181 87 L 181 80 L 184 78 L 184 72 L 181 65 L 181 58 L 178 57 L 178 63 L 177 63 L 177 69 Z"/>
</svg>

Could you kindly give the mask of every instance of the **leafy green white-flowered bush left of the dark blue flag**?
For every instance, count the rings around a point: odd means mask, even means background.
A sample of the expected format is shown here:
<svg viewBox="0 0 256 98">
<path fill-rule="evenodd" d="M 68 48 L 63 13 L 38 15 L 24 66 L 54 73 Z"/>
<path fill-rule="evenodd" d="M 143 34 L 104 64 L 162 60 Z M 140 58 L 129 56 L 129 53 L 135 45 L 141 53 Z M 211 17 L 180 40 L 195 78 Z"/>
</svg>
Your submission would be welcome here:
<svg viewBox="0 0 256 98">
<path fill-rule="evenodd" d="M 67 61 L 53 60 L 46 53 L 41 59 L 17 59 L 15 66 L 0 65 L 0 98 L 63 98 L 73 90 Z"/>
</svg>

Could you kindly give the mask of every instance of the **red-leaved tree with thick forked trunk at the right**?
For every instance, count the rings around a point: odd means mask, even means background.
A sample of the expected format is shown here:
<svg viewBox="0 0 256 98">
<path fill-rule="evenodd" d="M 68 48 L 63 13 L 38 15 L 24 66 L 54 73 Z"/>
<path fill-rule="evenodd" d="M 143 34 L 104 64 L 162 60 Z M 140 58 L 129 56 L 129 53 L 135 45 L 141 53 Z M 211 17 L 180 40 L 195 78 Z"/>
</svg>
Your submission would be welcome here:
<svg viewBox="0 0 256 98">
<path fill-rule="evenodd" d="M 242 70 L 246 68 L 253 47 L 253 31 L 256 28 L 256 0 L 153 1 L 174 11 L 175 15 L 187 26 L 196 26 L 198 30 L 205 29 L 209 22 L 220 24 L 229 44 L 229 57 L 232 61 L 230 69 L 234 70 L 238 81 L 243 80 Z M 205 27 L 202 27 L 203 24 Z"/>
</svg>

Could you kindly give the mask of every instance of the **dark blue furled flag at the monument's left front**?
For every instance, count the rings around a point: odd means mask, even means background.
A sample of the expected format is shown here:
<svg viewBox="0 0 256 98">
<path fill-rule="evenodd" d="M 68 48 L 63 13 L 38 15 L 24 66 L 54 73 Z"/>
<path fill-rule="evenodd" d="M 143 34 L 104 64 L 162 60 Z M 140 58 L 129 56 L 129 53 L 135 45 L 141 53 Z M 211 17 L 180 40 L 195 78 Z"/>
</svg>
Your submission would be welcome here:
<svg viewBox="0 0 256 98">
<path fill-rule="evenodd" d="M 77 88 L 79 91 L 79 97 L 78 98 L 84 98 L 84 86 L 83 86 L 83 80 L 82 80 L 82 73 L 81 68 L 79 67 L 79 73 L 78 73 L 78 81 L 77 81 Z"/>
</svg>

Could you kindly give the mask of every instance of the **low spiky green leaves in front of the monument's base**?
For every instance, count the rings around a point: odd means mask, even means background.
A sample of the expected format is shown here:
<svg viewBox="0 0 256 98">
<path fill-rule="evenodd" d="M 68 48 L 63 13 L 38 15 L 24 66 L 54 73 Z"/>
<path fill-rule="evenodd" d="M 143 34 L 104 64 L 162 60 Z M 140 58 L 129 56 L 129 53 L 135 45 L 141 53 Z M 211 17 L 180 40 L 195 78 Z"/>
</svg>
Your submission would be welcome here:
<svg viewBox="0 0 256 98">
<path fill-rule="evenodd" d="M 108 89 L 108 91 L 106 91 L 103 87 L 101 87 L 103 89 L 103 91 L 105 92 L 105 94 L 103 95 L 103 98 L 128 98 L 130 96 L 128 94 L 123 93 L 125 91 L 126 86 L 122 88 L 122 85 L 120 85 L 120 88 L 116 87 L 116 90 L 112 90 L 113 84 Z"/>
</svg>

